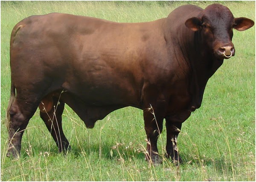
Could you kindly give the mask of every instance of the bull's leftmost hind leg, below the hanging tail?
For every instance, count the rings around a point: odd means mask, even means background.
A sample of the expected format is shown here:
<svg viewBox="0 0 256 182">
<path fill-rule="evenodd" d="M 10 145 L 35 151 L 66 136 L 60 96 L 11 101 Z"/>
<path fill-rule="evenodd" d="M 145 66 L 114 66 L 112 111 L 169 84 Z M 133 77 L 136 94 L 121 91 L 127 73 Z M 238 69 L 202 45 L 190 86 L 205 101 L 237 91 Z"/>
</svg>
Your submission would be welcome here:
<svg viewBox="0 0 256 182">
<path fill-rule="evenodd" d="M 29 100 L 20 100 L 18 97 L 13 102 L 9 113 L 10 120 L 7 124 L 9 131 L 9 147 L 7 156 L 17 157 L 20 155 L 21 139 L 29 123 L 29 119 L 34 115 L 38 103 Z"/>
</svg>

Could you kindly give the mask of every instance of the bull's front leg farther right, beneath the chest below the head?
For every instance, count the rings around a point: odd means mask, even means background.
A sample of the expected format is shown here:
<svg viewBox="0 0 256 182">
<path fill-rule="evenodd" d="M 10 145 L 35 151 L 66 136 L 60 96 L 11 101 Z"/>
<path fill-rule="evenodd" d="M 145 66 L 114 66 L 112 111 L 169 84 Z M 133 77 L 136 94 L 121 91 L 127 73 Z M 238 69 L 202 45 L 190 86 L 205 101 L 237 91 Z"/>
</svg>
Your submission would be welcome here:
<svg viewBox="0 0 256 182">
<path fill-rule="evenodd" d="M 166 119 L 166 152 L 167 157 L 171 157 L 173 162 L 177 165 L 180 165 L 182 159 L 179 156 L 178 149 L 177 149 L 177 137 L 180 133 L 181 129 L 181 122 L 171 122 L 170 120 Z"/>
</svg>

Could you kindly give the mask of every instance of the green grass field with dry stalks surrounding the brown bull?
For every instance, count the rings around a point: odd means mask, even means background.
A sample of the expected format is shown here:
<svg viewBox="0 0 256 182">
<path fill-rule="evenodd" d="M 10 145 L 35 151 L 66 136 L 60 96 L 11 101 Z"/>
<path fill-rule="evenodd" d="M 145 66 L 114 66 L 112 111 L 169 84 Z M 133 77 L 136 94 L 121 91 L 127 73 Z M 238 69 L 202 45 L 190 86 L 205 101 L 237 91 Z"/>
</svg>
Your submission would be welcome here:
<svg viewBox="0 0 256 182">
<path fill-rule="evenodd" d="M 66 155 L 39 112 L 23 135 L 21 157 L 6 158 L 6 107 L 10 91 L 9 39 L 17 22 L 33 14 L 62 12 L 144 22 L 167 17 L 178 6 L 205 8 L 213 2 L 1 2 L 1 180 L 2 181 L 255 181 L 255 26 L 234 31 L 236 56 L 224 61 L 207 84 L 200 109 L 183 123 L 178 149 L 184 164 L 157 167 L 144 160 L 143 112 L 123 108 L 87 129 L 66 106 L 64 133 L 73 147 Z M 220 2 L 235 17 L 255 21 L 255 2 Z M 159 137 L 165 154 L 166 130 Z"/>
</svg>

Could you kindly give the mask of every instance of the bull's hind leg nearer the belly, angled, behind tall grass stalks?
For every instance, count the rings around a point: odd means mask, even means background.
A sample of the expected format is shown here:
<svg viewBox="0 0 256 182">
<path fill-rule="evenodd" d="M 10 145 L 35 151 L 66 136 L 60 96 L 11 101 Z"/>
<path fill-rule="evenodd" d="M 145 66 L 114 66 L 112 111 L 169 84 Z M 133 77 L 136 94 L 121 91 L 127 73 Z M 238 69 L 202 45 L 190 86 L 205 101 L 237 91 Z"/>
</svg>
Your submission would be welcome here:
<svg viewBox="0 0 256 182">
<path fill-rule="evenodd" d="M 70 149 L 70 144 L 63 133 L 61 117 L 65 103 L 55 97 L 52 98 L 52 101 L 53 107 L 51 110 L 48 112 L 40 111 L 40 117 L 44 120 L 47 129 L 58 146 L 58 151 L 67 151 Z"/>
</svg>

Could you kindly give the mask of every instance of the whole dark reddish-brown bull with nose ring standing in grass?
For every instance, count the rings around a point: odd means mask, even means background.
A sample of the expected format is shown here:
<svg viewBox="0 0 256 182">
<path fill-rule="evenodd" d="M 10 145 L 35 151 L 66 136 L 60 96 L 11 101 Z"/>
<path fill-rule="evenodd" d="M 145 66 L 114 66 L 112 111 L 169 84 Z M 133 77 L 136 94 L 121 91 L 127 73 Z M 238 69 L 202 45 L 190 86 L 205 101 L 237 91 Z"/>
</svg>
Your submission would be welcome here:
<svg viewBox="0 0 256 182">
<path fill-rule="evenodd" d="M 10 41 L 8 156 L 20 154 L 38 106 L 58 150 L 70 148 L 61 125 L 66 103 L 87 128 L 116 109 L 142 109 L 146 157 L 154 163 L 161 162 L 157 138 L 166 119 L 167 156 L 181 162 L 175 148 L 182 123 L 201 106 L 208 79 L 235 55 L 233 28 L 253 25 L 220 4 L 181 6 L 146 23 L 59 13 L 25 18 Z"/>
</svg>

